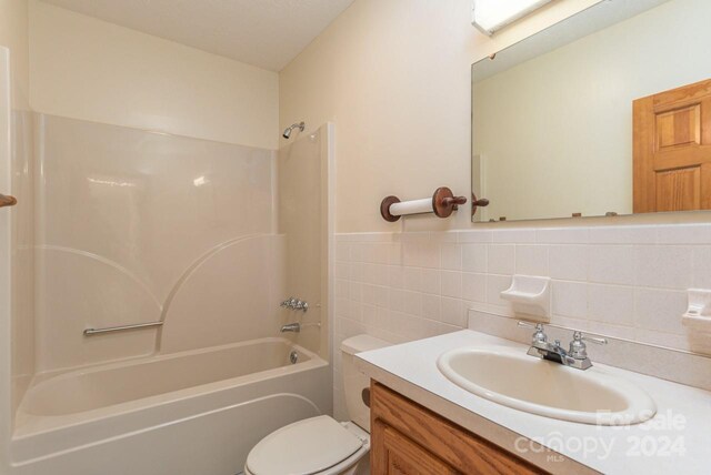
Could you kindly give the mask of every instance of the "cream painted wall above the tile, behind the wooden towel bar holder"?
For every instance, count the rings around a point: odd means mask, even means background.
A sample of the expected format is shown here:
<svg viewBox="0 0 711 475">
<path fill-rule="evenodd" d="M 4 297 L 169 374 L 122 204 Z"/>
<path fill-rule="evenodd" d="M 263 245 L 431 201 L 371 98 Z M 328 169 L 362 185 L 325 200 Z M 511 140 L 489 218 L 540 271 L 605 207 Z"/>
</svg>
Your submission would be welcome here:
<svg viewBox="0 0 711 475">
<path fill-rule="evenodd" d="M 338 232 L 397 231 L 382 198 L 470 191 L 470 64 L 598 0 L 554 2 L 493 39 L 471 26 L 470 0 L 357 0 L 279 77 L 282 127 L 332 120 Z M 469 226 L 409 219 L 407 229 Z"/>
</svg>

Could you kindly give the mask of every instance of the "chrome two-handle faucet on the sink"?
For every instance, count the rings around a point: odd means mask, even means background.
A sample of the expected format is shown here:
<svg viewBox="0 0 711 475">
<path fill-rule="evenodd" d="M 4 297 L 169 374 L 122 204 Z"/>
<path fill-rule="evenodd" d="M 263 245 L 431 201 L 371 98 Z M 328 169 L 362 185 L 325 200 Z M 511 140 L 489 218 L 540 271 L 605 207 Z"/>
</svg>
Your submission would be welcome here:
<svg viewBox="0 0 711 475">
<path fill-rule="evenodd" d="M 519 326 L 535 329 L 535 332 L 531 336 L 531 347 L 527 353 L 528 355 L 574 367 L 575 370 L 588 370 L 592 366 L 592 362 L 588 357 L 585 342 L 598 345 L 608 344 L 605 338 L 584 336 L 581 332 L 575 331 L 573 332 L 573 340 L 570 342 L 568 351 L 565 351 L 561 346 L 560 340 L 555 340 L 553 343 L 548 341 L 548 335 L 545 335 L 545 329 L 542 323 L 533 325 L 528 322 L 519 322 Z"/>
</svg>

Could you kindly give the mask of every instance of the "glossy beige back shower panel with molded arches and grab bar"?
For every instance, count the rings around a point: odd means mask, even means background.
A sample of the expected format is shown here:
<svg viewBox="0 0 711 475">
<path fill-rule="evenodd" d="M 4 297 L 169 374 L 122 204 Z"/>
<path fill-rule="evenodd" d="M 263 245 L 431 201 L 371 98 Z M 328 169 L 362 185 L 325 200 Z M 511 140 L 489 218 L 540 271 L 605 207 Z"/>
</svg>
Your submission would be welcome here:
<svg viewBox="0 0 711 475">
<path fill-rule="evenodd" d="M 273 152 L 37 120 L 38 371 L 278 333 Z"/>
</svg>

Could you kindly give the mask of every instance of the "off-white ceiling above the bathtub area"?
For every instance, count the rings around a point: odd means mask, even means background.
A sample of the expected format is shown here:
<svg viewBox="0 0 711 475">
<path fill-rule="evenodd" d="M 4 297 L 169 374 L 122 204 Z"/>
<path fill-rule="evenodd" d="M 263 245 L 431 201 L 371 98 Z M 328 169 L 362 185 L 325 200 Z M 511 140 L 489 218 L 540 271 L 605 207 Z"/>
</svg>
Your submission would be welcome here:
<svg viewBox="0 0 711 475">
<path fill-rule="evenodd" d="M 42 0 L 280 71 L 353 0 Z"/>
</svg>

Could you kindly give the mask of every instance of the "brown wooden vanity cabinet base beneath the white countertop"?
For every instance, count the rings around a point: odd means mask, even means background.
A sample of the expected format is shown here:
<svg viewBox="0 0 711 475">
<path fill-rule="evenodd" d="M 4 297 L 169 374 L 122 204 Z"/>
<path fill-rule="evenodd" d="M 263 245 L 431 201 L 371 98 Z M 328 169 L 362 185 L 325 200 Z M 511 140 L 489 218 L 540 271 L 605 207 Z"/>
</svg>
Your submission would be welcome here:
<svg viewBox="0 0 711 475">
<path fill-rule="evenodd" d="M 378 382 L 370 390 L 372 475 L 545 473 Z"/>
</svg>

